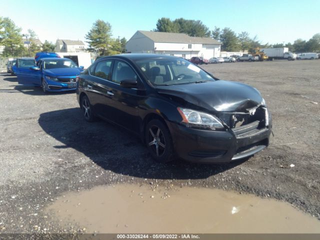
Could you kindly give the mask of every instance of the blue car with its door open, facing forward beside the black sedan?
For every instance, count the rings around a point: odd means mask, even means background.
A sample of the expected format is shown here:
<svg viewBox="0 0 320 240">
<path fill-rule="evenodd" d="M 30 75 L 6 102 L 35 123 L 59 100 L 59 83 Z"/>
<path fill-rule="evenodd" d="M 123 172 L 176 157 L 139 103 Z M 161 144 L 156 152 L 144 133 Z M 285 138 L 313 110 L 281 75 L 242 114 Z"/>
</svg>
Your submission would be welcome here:
<svg viewBox="0 0 320 240">
<path fill-rule="evenodd" d="M 68 58 L 17 58 L 15 72 L 19 84 L 41 86 L 44 92 L 74 91 L 75 78 L 83 70 Z"/>
</svg>

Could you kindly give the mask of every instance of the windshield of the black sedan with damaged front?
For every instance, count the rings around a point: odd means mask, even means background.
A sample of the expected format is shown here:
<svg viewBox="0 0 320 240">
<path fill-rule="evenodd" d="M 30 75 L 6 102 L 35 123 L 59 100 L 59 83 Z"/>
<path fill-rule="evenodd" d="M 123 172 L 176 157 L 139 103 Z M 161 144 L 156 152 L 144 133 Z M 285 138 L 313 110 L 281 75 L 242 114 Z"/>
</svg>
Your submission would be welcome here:
<svg viewBox="0 0 320 240">
<path fill-rule="evenodd" d="M 152 85 L 176 85 L 214 81 L 208 73 L 181 58 L 153 58 L 137 60 L 136 64 Z"/>
</svg>

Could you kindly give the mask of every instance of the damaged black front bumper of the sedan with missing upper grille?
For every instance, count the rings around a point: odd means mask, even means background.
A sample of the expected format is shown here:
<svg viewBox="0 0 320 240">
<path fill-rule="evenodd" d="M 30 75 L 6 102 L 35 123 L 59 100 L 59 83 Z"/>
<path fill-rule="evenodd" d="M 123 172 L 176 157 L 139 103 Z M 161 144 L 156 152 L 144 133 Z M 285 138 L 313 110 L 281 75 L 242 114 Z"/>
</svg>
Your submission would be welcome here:
<svg viewBox="0 0 320 240">
<path fill-rule="evenodd" d="M 198 163 L 227 163 L 245 158 L 269 144 L 272 120 L 268 126 L 259 122 L 225 130 L 202 130 L 166 122 L 172 135 L 175 153 L 187 161 Z"/>
</svg>

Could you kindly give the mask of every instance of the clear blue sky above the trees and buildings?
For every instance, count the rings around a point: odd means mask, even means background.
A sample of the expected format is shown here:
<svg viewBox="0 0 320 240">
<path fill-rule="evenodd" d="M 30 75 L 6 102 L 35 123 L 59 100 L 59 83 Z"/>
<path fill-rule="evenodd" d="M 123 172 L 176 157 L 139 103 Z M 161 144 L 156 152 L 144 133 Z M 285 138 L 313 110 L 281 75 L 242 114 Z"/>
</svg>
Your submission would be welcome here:
<svg viewBox="0 0 320 240">
<path fill-rule="evenodd" d="M 85 40 L 96 19 L 108 21 L 114 37 L 151 30 L 160 17 L 201 20 L 210 29 L 230 27 L 262 43 L 308 40 L 320 32 L 320 0 L 13 0 L 0 16 L 33 29 L 40 40 Z"/>
</svg>

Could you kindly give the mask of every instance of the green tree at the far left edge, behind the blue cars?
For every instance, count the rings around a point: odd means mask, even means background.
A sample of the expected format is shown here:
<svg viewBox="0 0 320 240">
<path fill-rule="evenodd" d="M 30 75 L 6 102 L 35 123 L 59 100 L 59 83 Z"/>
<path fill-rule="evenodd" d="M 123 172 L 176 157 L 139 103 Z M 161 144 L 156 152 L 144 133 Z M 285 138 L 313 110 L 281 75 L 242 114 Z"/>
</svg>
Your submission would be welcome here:
<svg viewBox="0 0 320 240">
<path fill-rule="evenodd" d="M 18 56 L 24 49 L 21 28 L 8 17 L 0 17 L 0 45 L 4 46 L 3 56 Z"/>
</svg>

